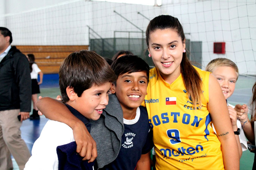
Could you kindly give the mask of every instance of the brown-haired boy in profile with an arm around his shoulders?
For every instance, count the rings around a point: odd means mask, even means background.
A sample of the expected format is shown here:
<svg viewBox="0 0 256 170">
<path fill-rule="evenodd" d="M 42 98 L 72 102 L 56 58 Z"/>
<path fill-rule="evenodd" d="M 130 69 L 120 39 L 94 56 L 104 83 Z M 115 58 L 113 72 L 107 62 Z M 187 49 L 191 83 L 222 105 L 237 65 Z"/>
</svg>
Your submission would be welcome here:
<svg viewBox="0 0 256 170">
<path fill-rule="evenodd" d="M 59 84 L 65 108 L 82 121 L 88 131 L 89 120 L 99 119 L 106 108 L 110 82 L 115 77 L 107 62 L 91 51 L 73 52 L 60 66 Z M 94 163 L 82 161 L 74 141 L 68 125 L 49 120 L 35 141 L 24 170 L 93 170 Z"/>
</svg>

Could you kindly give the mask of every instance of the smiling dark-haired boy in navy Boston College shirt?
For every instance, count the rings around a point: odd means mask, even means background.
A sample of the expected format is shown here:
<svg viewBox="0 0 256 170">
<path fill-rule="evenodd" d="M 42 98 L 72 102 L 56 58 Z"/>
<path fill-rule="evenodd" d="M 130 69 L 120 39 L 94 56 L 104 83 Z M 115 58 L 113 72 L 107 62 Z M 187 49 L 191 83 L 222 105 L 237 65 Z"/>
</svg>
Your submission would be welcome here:
<svg viewBox="0 0 256 170">
<path fill-rule="evenodd" d="M 117 76 L 111 90 L 123 110 L 124 134 L 118 157 L 103 169 L 150 169 L 152 132 L 147 110 L 140 106 L 147 94 L 149 66 L 137 56 L 125 55 L 115 60 L 111 68 Z"/>
</svg>

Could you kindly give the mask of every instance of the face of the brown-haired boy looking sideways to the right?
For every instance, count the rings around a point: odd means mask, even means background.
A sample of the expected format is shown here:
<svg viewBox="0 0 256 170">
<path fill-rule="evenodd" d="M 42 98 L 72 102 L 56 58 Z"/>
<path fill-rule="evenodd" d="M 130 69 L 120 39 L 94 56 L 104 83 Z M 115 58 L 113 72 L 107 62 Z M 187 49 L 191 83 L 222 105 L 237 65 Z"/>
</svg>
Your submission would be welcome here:
<svg viewBox="0 0 256 170">
<path fill-rule="evenodd" d="M 100 118 L 103 109 L 106 108 L 106 105 L 108 104 L 110 84 L 110 82 L 100 86 L 94 84 L 90 89 L 84 90 L 80 97 L 74 92 L 69 93 L 67 90 L 70 99 L 67 104 L 72 106 L 86 118 L 97 120 Z M 71 94 L 72 96 L 70 96 Z"/>
</svg>

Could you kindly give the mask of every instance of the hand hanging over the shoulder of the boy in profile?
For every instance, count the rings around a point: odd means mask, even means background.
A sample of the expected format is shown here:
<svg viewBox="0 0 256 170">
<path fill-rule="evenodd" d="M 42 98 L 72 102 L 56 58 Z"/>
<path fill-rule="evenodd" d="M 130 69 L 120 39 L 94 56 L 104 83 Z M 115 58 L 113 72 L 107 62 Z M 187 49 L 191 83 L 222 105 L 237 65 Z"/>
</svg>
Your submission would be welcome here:
<svg viewBox="0 0 256 170">
<path fill-rule="evenodd" d="M 77 153 L 84 157 L 83 160 L 88 160 L 89 163 L 93 162 L 97 157 L 96 142 L 85 125 L 82 122 L 77 122 L 73 128 L 73 134 L 77 143 Z"/>
</svg>

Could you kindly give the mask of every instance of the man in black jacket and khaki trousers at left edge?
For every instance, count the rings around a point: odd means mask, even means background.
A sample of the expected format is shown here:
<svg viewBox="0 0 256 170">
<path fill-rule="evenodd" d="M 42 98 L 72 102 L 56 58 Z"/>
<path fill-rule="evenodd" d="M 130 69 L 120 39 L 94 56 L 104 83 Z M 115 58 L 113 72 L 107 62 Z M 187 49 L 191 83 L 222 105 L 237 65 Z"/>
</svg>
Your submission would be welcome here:
<svg viewBox="0 0 256 170">
<path fill-rule="evenodd" d="M 23 170 L 30 152 L 20 127 L 31 110 L 31 78 L 26 56 L 11 43 L 12 33 L 0 27 L 0 169 L 12 168 L 12 153 Z"/>
</svg>

